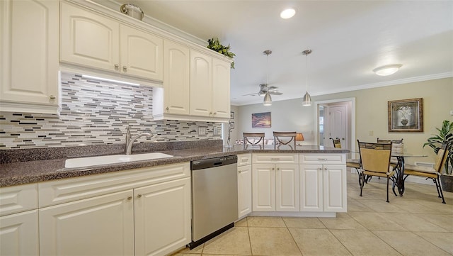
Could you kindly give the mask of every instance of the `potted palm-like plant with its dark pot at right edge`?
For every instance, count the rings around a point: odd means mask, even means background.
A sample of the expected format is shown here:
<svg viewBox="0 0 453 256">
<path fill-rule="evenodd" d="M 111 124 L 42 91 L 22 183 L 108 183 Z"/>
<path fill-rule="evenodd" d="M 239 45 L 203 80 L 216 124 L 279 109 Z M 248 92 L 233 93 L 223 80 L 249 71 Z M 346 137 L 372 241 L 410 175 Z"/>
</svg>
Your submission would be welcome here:
<svg viewBox="0 0 453 256">
<path fill-rule="evenodd" d="M 439 131 L 439 134 L 428 138 L 428 142 L 423 144 L 423 148 L 428 145 L 434 152 L 437 152 L 440 149 L 442 143 L 447 144 L 447 160 L 445 161 L 445 174 L 440 176 L 440 182 L 442 183 L 442 189 L 445 191 L 453 192 L 453 121 L 444 120 L 442 122 L 442 128 L 436 128 Z"/>
</svg>

